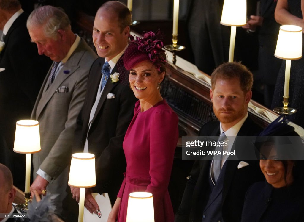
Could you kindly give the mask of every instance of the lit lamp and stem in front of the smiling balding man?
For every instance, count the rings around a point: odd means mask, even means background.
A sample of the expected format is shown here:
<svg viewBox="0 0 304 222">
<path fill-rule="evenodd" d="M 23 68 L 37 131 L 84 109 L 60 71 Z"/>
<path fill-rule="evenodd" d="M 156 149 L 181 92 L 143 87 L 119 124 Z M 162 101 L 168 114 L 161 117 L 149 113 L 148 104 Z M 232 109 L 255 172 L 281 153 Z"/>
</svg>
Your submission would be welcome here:
<svg viewBox="0 0 304 222">
<path fill-rule="evenodd" d="M 72 187 L 80 187 L 78 222 L 82 222 L 85 206 L 85 188 L 96 186 L 94 154 L 74 153 L 72 155 L 67 184 Z"/>
</svg>

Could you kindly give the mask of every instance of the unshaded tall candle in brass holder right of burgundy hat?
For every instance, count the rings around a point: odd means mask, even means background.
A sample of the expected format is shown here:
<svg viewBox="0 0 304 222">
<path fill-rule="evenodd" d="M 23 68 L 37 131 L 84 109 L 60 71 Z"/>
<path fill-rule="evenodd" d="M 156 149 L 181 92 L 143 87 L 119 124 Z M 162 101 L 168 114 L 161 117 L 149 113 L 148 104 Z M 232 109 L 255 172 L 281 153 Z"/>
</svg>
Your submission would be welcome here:
<svg viewBox="0 0 304 222">
<path fill-rule="evenodd" d="M 178 45 L 178 9 L 179 9 L 179 0 L 174 0 L 173 5 L 173 31 L 172 31 L 172 44 L 165 45 L 165 49 L 173 53 L 173 64 L 176 63 L 176 52 L 185 49 L 185 46 Z"/>
</svg>

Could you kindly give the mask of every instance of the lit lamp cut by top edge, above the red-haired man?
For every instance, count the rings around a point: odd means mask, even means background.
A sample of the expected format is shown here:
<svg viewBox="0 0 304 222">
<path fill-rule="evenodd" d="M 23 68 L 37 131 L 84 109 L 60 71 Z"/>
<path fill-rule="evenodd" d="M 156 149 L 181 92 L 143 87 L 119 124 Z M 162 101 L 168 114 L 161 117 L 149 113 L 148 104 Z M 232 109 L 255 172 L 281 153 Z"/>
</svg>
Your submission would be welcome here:
<svg viewBox="0 0 304 222">
<path fill-rule="evenodd" d="M 235 34 L 237 26 L 246 25 L 247 20 L 246 0 L 224 0 L 222 17 L 220 23 L 225 26 L 231 26 L 229 62 L 233 62 Z"/>
</svg>

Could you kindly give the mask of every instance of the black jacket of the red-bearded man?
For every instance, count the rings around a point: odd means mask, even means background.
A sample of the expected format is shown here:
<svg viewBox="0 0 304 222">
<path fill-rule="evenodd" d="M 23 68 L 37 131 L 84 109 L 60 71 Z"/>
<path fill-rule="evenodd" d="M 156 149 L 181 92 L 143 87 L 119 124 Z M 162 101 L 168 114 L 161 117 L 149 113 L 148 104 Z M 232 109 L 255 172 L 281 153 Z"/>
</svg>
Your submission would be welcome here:
<svg viewBox="0 0 304 222">
<path fill-rule="evenodd" d="M 249 117 L 244 122 L 237 136 L 253 136 L 261 128 Z M 208 122 L 200 130 L 199 136 L 219 136 L 219 122 Z M 209 187 L 209 170 L 212 160 L 196 160 L 191 177 L 175 216 L 175 222 L 201 222 L 203 210 L 211 192 Z M 222 216 L 225 222 L 240 221 L 245 193 L 256 181 L 263 180 L 257 160 L 244 160 L 248 166 L 237 168 L 242 160 L 227 160 L 222 196 Z M 206 216 L 207 217 L 207 216 Z"/>
</svg>

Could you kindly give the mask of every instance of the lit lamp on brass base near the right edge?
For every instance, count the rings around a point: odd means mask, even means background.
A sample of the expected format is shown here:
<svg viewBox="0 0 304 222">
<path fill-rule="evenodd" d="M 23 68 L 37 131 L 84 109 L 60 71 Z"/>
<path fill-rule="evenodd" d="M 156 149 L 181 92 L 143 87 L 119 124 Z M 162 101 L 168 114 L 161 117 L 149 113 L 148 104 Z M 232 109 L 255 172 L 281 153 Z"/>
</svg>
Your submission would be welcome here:
<svg viewBox="0 0 304 222">
<path fill-rule="evenodd" d="M 295 25 L 282 25 L 278 35 L 275 57 L 285 59 L 285 83 L 283 95 L 283 107 L 273 109 L 276 113 L 290 115 L 297 112 L 288 107 L 289 104 L 289 79 L 291 60 L 302 58 L 302 28 Z"/>
</svg>

